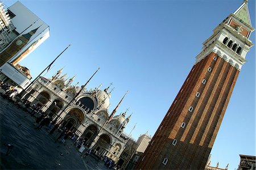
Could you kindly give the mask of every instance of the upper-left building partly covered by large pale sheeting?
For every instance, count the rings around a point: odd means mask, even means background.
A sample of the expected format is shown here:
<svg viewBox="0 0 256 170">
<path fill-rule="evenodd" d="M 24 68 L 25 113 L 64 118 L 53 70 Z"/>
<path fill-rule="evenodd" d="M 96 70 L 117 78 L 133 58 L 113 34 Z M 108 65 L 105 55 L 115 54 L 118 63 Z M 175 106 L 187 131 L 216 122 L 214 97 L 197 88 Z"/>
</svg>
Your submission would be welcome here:
<svg viewBox="0 0 256 170">
<path fill-rule="evenodd" d="M 49 26 L 22 3 L 0 1 L 0 80 L 20 88 L 30 84 L 17 65 L 49 38 Z"/>
</svg>

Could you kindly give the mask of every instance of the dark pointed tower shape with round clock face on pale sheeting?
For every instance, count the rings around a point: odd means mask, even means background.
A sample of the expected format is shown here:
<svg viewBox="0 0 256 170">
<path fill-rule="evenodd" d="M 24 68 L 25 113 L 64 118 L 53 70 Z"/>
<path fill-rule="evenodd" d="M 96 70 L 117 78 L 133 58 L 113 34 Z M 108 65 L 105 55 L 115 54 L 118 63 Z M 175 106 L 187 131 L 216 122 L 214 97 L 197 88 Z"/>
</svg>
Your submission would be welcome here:
<svg viewBox="0 0 256 170">
<path fill-rule="evenodd" d="M 35 34 L 38 28 L 28 32 L 27 34 L 20 35 L 0 53 L 0 67 L 9 61 L 11 57 L 15 56 L 16 53 L 18 53 L 20 49 L 22 49 L 29 42 L 31 36 Z"/>
</svg>

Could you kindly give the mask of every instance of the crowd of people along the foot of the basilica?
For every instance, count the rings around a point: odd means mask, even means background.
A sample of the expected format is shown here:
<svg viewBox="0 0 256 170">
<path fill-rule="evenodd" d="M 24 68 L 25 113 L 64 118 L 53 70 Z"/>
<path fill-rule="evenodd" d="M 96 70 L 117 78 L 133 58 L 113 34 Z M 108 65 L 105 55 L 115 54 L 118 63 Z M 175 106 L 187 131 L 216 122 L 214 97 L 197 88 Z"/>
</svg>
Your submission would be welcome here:
<svg viewBox="0 0 256 170">
<path fill-rule="evenodd" d="M 55 142 L 63 143 L 64 145 L 69 139 L 73 142 L 73 144 L 77 148 L 77 151 L 80 152 L 81 157 L 91 155 L 95 159 L 103 160 L 107 168 L 119 169 L 117 164 L 115 164 L 112 159 L 107 156 L 98 155 L 97 150 L 92 150 L 92 148 L 90 148 L 89 144 L 86 143 L 86 140 L 82 138 L 82 136 L 76 135 L 74 132 L 67 129 L 61 124 L 61 122 L 56 122 L 55 120 L 53 120 L 50 115 L 44 113 L 41 110 L 41 107 L 39 105 L 31 103 L 30 101 L 27 101 L 27 99 L 14 99 L 16 94 L 18 94 L 18 90 L 15 86 L 3 83 L 3 81 L 0 80 L 0 88 L 5 92 L 1 93 L 1 96 L 3 98 L 8 99 L 9 102 L 14 102 L 16 107 L 26 111 L 28 114 L 31 115 L 32 118 L 35 119 L 35 129 L 44 128 L 49 133 L 49 135 L 53 135 L 53 137 L 55 138 Z"/>
</svg>

